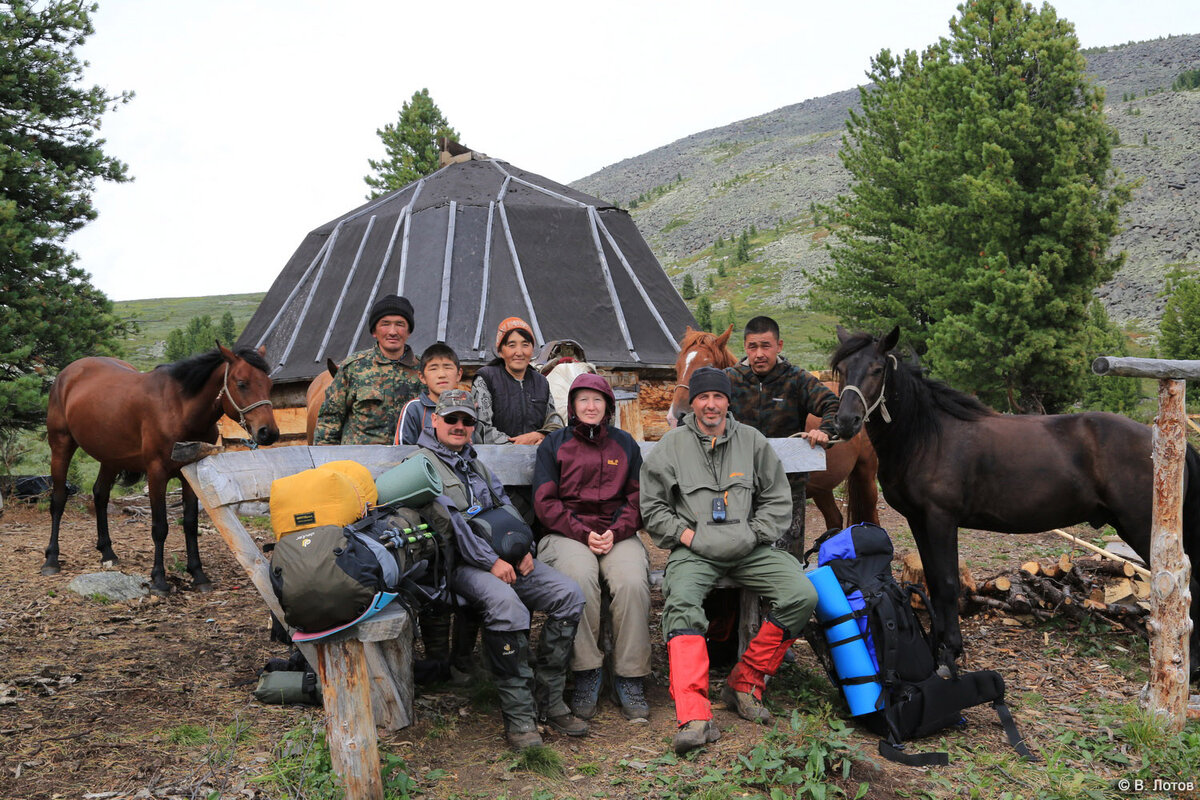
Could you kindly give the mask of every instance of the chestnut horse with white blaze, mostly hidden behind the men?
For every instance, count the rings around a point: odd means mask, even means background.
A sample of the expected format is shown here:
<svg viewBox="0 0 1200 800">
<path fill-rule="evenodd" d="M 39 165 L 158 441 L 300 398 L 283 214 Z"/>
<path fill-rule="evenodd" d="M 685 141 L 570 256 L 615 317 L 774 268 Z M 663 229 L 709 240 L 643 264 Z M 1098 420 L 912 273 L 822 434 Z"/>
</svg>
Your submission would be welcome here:
<svg viewBox="0 0 1200 800">
<path fill-rule="evenodd" d="M 715 335 L 706 331 L 688 330 L 679 342 L 679 357 L 676 359 L 676 387 L 671 397 L 671 410 L 667 411 L 667 423 L 674 427 L 690 408 L 688 405 L 688 381 L 691 373 L 700 367 L 732 367 L 738 362 L 733 351 L 728 348 L 730 336 L 733 326 L 730 325 L 724 333 Z M 826 384 L 838 392 L 835 385 Z M 821 420 L 809 415 L 804 429 L 812 431 L 821 425 Z M 870 522 L 880 524 L 880 512 L 876 507 L 878 503 L 878 489 L 875 486 L 876 469 L 875 450 L 865 433 L 857 433 L 850 439 L 836 443 L 826 450 L 826 468 L 818 473 L 809 473 L 808 495 L 821 511 L 824 518 L 826 529 L 836 528 L 841 530 L 845 524 Z M 834 499 L 833 491 L 846 482 L 846 517 L 842 517 L 841 509 Z"/>
</svg>

